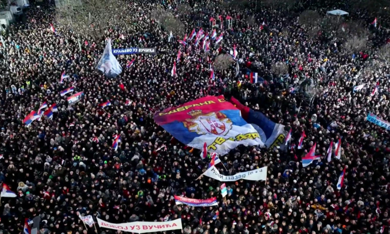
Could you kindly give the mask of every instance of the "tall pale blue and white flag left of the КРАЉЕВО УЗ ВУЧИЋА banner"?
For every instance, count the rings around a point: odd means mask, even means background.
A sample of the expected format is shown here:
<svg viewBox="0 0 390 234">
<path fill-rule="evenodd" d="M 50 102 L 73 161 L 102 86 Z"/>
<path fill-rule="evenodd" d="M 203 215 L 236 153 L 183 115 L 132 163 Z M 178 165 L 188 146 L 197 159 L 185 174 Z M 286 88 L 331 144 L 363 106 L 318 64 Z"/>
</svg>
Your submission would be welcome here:
<svg viewBox="0 0 390 234">
<path fill-rule="evenodd" d="M 121 74 L 122 67 L 111 51 L 111 39 L 108 39 L 106 48 L 104 48 L 103 55 L 97 63 L 96 68 L 102 71 L 106 76 L 112 78 Z"/>
</svg>

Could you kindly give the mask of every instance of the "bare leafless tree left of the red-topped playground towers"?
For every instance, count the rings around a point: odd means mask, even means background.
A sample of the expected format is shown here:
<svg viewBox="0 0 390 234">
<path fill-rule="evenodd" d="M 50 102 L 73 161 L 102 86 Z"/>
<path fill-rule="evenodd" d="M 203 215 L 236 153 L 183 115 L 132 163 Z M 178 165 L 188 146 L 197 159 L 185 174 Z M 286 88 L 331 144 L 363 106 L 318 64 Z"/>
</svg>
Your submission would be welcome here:
<svg viewBox="0 0 390 234">
<path fill-rule="evenodd" d="M 165 11 L 162 8 L 157 8 L 151 12 L 151 18 L 156 20 L 160 27 L 167 32 L 172 31 L 172 34 L 184 36 L 185 27 L 184 24 L 169 11 Z"/>
</svg>

